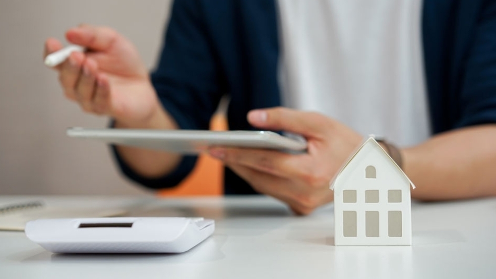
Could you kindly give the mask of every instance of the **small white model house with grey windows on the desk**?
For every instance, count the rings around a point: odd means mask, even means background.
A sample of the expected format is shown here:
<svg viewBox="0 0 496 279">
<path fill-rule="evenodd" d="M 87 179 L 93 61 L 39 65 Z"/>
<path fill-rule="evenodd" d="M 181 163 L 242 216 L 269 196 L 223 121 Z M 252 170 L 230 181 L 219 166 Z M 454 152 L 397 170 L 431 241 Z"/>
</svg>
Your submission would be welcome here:
<svg viewBox="0 0 496 279">
<path fill-rule="evenodd" d="M 370 137 L 330 184 L 334 244 L 412 245 L 412 181 Z"/>
</svg>

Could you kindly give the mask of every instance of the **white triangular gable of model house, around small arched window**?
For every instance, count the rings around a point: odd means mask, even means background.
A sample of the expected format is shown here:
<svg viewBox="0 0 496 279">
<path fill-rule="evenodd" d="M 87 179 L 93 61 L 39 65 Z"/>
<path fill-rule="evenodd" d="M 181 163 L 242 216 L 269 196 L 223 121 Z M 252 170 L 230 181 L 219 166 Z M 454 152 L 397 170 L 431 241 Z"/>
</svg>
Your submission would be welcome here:
<svg viewBox="0 0 496 279">
<path fill-rule="evenodd" d="M 375 168 L 376 178 L 365 178 L 366 168 L 373 166 Z M 369 180 L 370 179 L 370 180 Z M 373 188 L 398 188 L 409 187 L 415 188 L 401 168 L 394 163 L 382 147 L 371 137 L 353 154 L 347 163 L 336 174 L 330 184 L 332 190 L 353 188 L 367 185 Z M 350 187 L 350 185 L 353 185 Z"/>
</svg>

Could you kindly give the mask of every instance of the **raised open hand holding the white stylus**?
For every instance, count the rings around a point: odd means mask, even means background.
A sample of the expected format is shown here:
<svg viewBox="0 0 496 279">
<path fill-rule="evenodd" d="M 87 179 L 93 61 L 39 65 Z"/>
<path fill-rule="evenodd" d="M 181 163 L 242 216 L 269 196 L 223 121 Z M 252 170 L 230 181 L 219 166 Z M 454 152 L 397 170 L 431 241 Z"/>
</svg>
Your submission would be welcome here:
<svg viewBox="0 0 496 279">
<path fill-rule="evenodd" d="M 67 41 L 84 46 L 55 69 L 65 96 L 84 112 L 104 114 L 128 126 L 145 126 L 160 105 L 134 46 L 107 27 L 81 25 L 66 33 Z M 62 49 L 56 39 L 45 42 L 45 57 Z"/>
</svg>

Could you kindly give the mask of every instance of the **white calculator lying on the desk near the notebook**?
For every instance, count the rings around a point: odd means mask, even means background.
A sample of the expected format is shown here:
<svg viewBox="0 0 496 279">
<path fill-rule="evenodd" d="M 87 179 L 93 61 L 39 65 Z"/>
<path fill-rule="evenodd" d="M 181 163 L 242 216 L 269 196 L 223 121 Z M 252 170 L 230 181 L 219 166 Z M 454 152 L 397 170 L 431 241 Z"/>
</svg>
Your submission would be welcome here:
<svg viewBox="0 0 496 279">
<path fill-rule="evenodd" d="M 39 219 L 26 236 L 54 253 L 182 253 L 208 238 L 215 222 L 203 218 L 118 217 Z"/>
</svg>

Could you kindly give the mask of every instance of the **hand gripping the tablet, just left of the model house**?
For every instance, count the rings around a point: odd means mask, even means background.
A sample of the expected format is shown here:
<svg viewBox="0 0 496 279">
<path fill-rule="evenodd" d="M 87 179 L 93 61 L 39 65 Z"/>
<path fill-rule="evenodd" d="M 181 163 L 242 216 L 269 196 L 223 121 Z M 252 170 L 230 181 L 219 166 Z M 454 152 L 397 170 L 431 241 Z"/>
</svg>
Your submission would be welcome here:
<svg viewBox="0 0 496 279">
<path fill-rule="evenodd" d="M 251 125 L 303 135 L 307 154 L 241 148 L 214 148 L 222 160 L 257 192 L 273 196 L 297 214 L 308 215 L 333 200 L 329 182 L 363 138 L 345 125 L 314 112 L 286 108 L 248 113 Z"/>
</svg>

